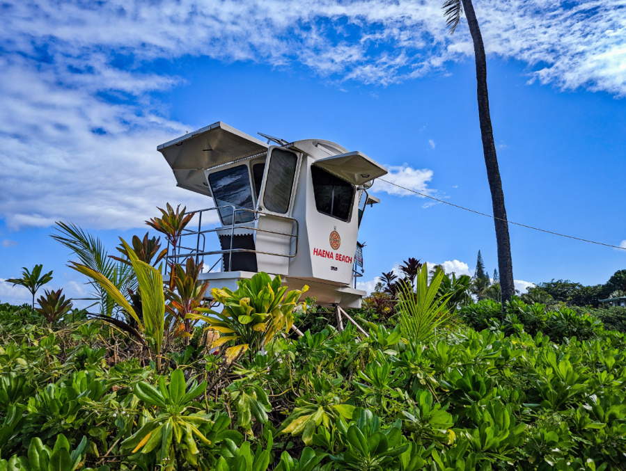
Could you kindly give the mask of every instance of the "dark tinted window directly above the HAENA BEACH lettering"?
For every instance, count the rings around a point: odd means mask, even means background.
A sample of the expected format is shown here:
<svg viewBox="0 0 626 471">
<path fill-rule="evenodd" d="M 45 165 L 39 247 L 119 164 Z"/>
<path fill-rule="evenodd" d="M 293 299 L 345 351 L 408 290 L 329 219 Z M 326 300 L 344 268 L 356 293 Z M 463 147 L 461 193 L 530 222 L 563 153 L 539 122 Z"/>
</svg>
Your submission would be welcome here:
<svg viewBox="0 0 626 471">
<path fill-rule="evenodd" d="M 354 200 L 354 186 L 314 165 L 311 166 L 311 175 L 318 211 L 347 221 Z"/>
</svg>

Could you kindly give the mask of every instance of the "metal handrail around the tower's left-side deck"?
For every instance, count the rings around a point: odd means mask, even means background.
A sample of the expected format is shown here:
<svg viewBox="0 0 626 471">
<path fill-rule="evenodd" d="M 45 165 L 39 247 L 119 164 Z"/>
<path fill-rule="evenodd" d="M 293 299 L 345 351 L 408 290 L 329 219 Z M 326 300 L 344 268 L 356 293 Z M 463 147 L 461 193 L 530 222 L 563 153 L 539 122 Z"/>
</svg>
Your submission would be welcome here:
<svg viewBox="0 0 626 471">
<path fill-rule="evenodd" d="M 201 226 L 202 226 L 202 214 L 205 211 L 219 211 L 219 209 L 224 209 L 224 208 L 230 208 L 232 209 L 233 213 L 232 213 L 232 219 L 230 222 L 230 225 L 224 225 L 221 227 L 216 227 L 214 229 L 207 229 L 207 230 L 202 230 Z M 279 232 L 279 231 L 275 231 L 275 230 L 269 230 L 269 229 L 260 229 L 259 227 L 252 227 L 249 225 L 242 225 L 242 224 L 246 224 L 246 223 L 235 223 L 235 215 L 238 212 L 251 212 L 254 214 L 254 218 L 253 219 L 257 219 L 260 216 L 263 217 L 267 217 L 267 216 L 272 216 L 274 218 L 281 218 L 281 219 L 285 219 L 286 221 L 290 221 L 292 223 L 292 228 L 293 228 L 293 223 L 295 223 L 295 234 L 292 232 L 287 233 L 287 232 Z M 247 209 L 247 208 L 237 208 L 235 207 L 235 205 L 223 205 L 223 206 L 216 206 L 216 207 L 212 207 L 212 208 L 205 208 L 205 209 L 198 209 L 196 211 L 187 211 L 187 213 L 191 213 L 191 214 L 198 214 L 198 230 L 194 231 L 191 229 L 183 229 L 181 232 L 181 239 L 182 237 L 187 237 L 187 236 L 191 236 L 191 235 L 197 235 L 197 239 L 196 239 L 196 248 L 194 249 L 193 247 L 187 247 L 187 246 L 183 246 L 182 244 L 178 244 L 177 246 L 177 250 L 176 252 L 178 253 L 173 253 L 173 254 L 169 254 L 169 241 L 167 244 L 167 251 L 168 251 L 168 255 L 166 255 L 165 259 L 166 259 L 166 264 L 169 260 L 178 260 L 181 257 L 196 257 L 196 264 L 198 263 L 199 257 L 204 256 L 204 255 L 217 255 L 217 254 L 221 254 L 222 257 L 220 260 L 224 260 L 224 254 L 228 253 L 229 257 L 228 257 L 228 271 L 232 271 L 232 267 L 233 267 L 233 253 L 238 253 L 238 252 L 242 252 L 242 253 L 259 253 L 262 255 L 274 255 L 276 257 L 288 257 L 288 258 L 293 258 L 297 255 L 298 253 L 298 238 L 299 238 L 299 223 L 297 221 L 297 219 L 295 218 L 290 218 L 288 216 L 279 216 L 277 214 L 267 214 L 267 213 L 263 213 L 257 209 Z M 281 236 L 285 236 L 285 237 L 295 237 L 295 251 L 293 254 L 283 254 L 283 253 L 272 253 L 272 252 L 264 252 L 261 250 L 252 250 L 252 249 L 248 249 L 248 248 L 233 248 L 233 240 L 235 239 L 235 228 L 238 230 L 250 230 L 250 231 L 256 231 L 256 232 L 266 232 L 267 234 L 276 234 L 276 235 L 281 235 Z M 228 231 L 230 229 L 230 248 L 228 248 L 228 250 L 205 250 L 205 246 L 206 246 L 206 237 L 205 234 L 208 234 L 209 232 L 224 232 L 224 231 Z M 200 237 L 203 238 L 203 243 L 202 243 L 202 250 L 200 248 L 201 244 L 200 244 Z M 185 252 L 185 253 L 181 253 L 181 249 L 182 250 L 189 250 L 189 252 Z M 290 250 L 291 252 L 291 250 Z M 215 264 L 211 267 L 211 270 L 219 263 L 219 260 L 217 262 L 215 262 Z"/>
</svg>

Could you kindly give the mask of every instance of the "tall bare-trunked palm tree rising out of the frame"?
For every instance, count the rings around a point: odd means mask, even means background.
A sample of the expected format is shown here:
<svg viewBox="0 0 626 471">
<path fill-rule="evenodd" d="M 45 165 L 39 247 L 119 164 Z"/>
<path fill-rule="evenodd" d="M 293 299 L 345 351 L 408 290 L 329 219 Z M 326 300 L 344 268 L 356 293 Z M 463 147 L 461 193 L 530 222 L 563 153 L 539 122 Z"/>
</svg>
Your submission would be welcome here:
<svg viewBox="0 0 626 471">
<path fill-rule="evenodd" d="M 508 222 L 504 207 L 504 193 L 496 156 L 494 132 L 489 113 L 489 95 L 487 93 L 487 59 L 483 37 L 480 35 L 478 20 L 474 13 L 471 0 L 445 0 L 444 15 L 450 33 L 454 33 L 461 22 L 461 15 L 465 12 L 471 40 L 474 42 L 474 57 L 476 58 L 476 82 L 478 95 L 478 118 L 480 119 L 480 135 L 483 138 L 483 154 L 487 166 L 487 180 L 491 190 L 494 209 L 494 224 L 496 226 L 496 244 L 498 246 L 498 270 L 502 289 L 502 305 L 515 294 L 513 282 L 513 264 L 511 260 L 511 246 L 508 235 Z"/>
</svg>

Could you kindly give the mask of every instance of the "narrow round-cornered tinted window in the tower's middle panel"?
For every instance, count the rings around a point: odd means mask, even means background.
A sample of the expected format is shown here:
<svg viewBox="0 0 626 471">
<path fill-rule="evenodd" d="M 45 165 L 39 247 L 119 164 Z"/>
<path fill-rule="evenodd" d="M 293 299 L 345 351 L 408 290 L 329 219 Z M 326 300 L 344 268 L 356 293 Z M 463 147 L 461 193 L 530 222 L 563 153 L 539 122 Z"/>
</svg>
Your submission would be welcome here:
<svg viewBox="0 0 626 471">
<path fill-rule="evenodd" d="M 293 152 L 278 148 L 272 150 L 263 196 L 267 211 L 285 214 L 289 209 L 297 160 Z"/>
</svg>

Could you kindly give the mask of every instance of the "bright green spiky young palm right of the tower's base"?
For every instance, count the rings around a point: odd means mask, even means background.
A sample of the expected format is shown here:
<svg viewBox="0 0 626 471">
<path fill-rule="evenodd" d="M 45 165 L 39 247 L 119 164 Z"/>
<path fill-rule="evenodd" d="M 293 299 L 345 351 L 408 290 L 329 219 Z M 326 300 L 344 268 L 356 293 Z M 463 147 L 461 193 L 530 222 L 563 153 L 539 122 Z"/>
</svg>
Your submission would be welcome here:
<svg viewBox="0 0 626 471">
<path fill-rule="evenodd" d="M 450 294 L 437 296 L 443 271 L 438 271 L 428 284 L 428 266 L 423 264 L 416 280 L 416 291 L 413 292 L 407 282 L 400 283 L 398 310 L 402 335 L 413 342 L 430 342 L 438 327 L 451 320 L 448 310 Z"/>
</svg>

